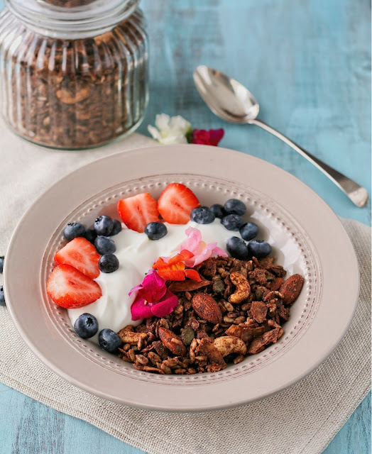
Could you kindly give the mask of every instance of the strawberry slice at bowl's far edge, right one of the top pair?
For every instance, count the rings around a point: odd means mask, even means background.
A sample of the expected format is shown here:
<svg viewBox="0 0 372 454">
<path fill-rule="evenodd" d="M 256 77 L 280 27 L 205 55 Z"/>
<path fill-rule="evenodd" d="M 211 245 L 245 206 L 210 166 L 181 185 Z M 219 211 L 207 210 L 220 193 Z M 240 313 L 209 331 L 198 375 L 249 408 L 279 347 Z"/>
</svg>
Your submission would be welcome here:
<svg viewBox="0 0 372 454">
<path fill-rule="evenodd" d="M 185 184 L 171 183 L 160 194 L 158 210 L 164 221 L 170 224 L 187 224 L 199 200 Z"/>
</svg>

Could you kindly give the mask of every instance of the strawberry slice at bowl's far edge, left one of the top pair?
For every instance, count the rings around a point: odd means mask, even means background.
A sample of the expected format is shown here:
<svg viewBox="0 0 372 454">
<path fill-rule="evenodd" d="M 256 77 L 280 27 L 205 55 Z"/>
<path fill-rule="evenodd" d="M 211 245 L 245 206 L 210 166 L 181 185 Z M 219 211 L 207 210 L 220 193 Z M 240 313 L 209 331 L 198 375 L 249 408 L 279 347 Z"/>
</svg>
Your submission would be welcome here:
<svg viewBox="0 0 372 454">
<path fill-rule="evenodd" d="M 118 213 L 128 228 L 141 233 L 148 223 L 159 221 L 156 200 L 148 192 L 119 200 Z"/>
</svg>

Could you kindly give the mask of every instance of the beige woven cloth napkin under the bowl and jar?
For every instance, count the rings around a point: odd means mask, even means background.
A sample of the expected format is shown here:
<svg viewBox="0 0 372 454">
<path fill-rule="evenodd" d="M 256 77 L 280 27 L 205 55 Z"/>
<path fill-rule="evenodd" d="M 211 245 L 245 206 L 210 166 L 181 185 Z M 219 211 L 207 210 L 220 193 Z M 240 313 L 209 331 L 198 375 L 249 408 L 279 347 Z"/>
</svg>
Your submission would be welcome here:
<svg viewBox="0 0 372 454">
<path fill-rule="evenodd" d="M 97 157 L 153 143 L 134 134 L 97 150 L 55 152 L 16 138 L 2 125 L 0 137 L 0 255 L 6 253 L 23 212 L 56 179 Z M 151 454 L 321 453 L 371 384 L 371 229 L 356 221 L 342 222 L 359 258 L 356 314 L 332 356 L 305 380 L 274 397 L 202 414 L 149 412 L 107 402 L 45 367 L 24 345 L 2 307 L 0 380 Z"/>
</svg>

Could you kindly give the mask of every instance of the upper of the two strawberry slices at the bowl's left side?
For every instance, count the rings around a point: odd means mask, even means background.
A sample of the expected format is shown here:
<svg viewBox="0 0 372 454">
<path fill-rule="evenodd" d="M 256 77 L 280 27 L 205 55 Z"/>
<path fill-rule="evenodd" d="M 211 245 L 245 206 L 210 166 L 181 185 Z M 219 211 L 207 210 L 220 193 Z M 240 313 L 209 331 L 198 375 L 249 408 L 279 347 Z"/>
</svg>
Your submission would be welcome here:
<svg viewBox="0 0 372 454">
<path fill-rule="evenodd" d="M 71 265 L 91 279 L 99 276 L 99 253 L 85 238 L 74 238 L 67 243 L 55 254 L 54 261 L 57 265 Z"/>
</svg>

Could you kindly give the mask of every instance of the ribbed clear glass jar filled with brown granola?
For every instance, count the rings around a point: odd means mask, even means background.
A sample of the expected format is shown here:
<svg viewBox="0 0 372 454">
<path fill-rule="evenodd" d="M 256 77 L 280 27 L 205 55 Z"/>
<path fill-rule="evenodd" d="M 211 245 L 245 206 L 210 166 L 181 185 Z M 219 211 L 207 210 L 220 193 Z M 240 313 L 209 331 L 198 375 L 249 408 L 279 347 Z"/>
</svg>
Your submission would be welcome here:
<svg viewBox="0 0 372 454">
<path fill-rule="evenodd" d="M 139 0 L 6 0 L 2 116 L 23 138 L 89 148 L 134 131 L 148 103 Z"/>
</svg>

